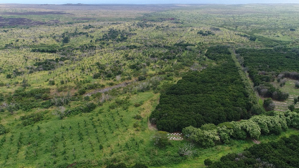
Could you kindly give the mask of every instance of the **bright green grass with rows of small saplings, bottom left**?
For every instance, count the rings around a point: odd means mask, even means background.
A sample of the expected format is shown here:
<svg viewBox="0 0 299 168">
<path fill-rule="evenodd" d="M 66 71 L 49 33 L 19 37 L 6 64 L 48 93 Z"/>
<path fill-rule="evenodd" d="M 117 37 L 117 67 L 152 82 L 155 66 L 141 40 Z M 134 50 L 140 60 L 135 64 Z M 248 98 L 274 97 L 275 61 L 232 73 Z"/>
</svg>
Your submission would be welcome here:
<svg viewBox="0 0 299 168">
<path fill-rule="evenodd" d="M 6 116 L 5 118 L 8 119 L 5 119 L 5 121 L 9 123 L 6 125 L 10 132 L 0 136 L 0 138 L 6 138 L 0 149 L 2 153 L 0 164 L 5 167 L 39 167 L 43 166 L 45 161 L 46 167 L 55 167 L 53 164 L 55 161 L 57 161 L 57 164 L 65 162 L 71 164 L 83 158 L 87 160 L 99 159 L 101 161 L 116 158 L 122 161 L 126 159 L 127 163 L 134 163 L 133 161 L 140 159 L 142 153 L 145 154 L 144 150 L 150 145 L 150 137 L 154 131 L 147 129 L 149 113 L 143 113 L 144 117 L 141 120 L 136 120 L 133 117 L 144 110 L 155 107 L 157 98 L 158 94 L 151 92 L 139 93 L 138 95 L 133 95 L 129 100 L 131 104 L 143 101 L 144 104 L 140 107 L 136 108 L 131 105 L 128 110 L 121 108 L 110 110 L 108 107 L 111 103 L 108 102 L 93 112 L 70 116 L 63 120 L 59 120 L 51 113 L 47 113 L 46 118 L 48 119 L 25 127 L 20 124 L 19 119 L 14 119 L 16 116 Z M 1 115 L 1 118 L 3 117 Z M 137 128 L 133 127 L 135 122 L 139 123 Z M 92 123 L 94 123 L 94 126 Z M 37 130 L 37 126 L 40 127 L 40 130 Z M 79 130 L 83 134 L 82 141 L 79 141 Z M 89 135 L 87 135 L 87 130 Z M 98 135 L 95 130 L 98 131 Z M 21 139 L 22 145 L 19 152 L 17 152 L 16 144 L 18 143 L 20 133 L 23 134 Z M 61 138 L 62 133 L 65 137 L 65 147 L 63 147 Z M 99 136 L 100 142 L 97 141 L 97 136 Z M 10 140 L 10 137 L 12 137 L 12 140 Z M 56 147 L 54 147 L 52 142 L 55 137 L 57 137 Z M 29 141 L 30 144 L 28 143 Z M 135 141 L 140 145 L 139 147 L 135 147 Z M 140 141 L 144 142 L 140 143 Z M 126 143 L 132 148 L 131 150 L 126 149 Z M 100 144 L 103 145 L 102 150 L 99 149 Z M 94 152 L 91 152 L 91 148 L 94 149 Z M 64 155 L 61 154 L 64 149 L 66 150 L 65 156 L 68 158 L 67 161 L 63 160 Z M 73 149 L 75 149 L 76 159 L 73 155 Z M 138 156 L 126 158 L 126 155 L 133 156 L 132 150 L 138 152 Z M 26 151 L 28 154 L 25 154 Z M 110 156 L 111 151 L 115 153 L 112 156 Z M 54 153 L 56 153 L 57 157 L 53 157 Z M 25 158 L 25 155 L 27 155 L 27 158 Z M 8 159 L 5 159 L 7 156 Z"/>
</svg>

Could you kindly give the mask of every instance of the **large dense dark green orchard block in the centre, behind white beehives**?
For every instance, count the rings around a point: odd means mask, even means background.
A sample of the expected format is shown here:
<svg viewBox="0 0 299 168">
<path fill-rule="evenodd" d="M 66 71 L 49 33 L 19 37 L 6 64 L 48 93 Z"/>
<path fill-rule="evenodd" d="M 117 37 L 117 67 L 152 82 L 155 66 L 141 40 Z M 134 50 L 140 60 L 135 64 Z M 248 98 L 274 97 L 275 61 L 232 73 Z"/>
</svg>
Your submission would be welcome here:
<svg viewBox="0 0 299 168">
<path fill-rule="evenodd" d="M 228 46 L 213 46 L 206 56 L 216 61 L 201 72 L 189 72 L 161 93 L 150 115 L 159 130 L 181 131 L 206 123 L 247 119 L 253 105 Z"/>
</svg>

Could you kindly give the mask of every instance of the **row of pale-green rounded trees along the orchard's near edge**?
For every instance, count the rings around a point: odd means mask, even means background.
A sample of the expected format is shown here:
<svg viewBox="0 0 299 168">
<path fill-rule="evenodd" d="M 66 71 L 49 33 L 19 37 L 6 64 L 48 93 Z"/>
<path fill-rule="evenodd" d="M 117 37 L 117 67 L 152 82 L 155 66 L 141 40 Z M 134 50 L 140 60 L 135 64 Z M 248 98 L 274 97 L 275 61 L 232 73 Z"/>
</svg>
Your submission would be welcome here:
<svg viewBox="0 0 299 168">
<path fill-rule="evenodd" d="M 185 127 L 182 133 L 191 141 L 203 147 L 213 147 L 215 142 L 230 144 L 231 139 L 258 139 L 260 135 L 279 135 L 288 127 L 299 128 L 299 114 L 287 110 L 286 112 L 271 111 L 268 115 L 255 115 L 248 120 L 225 122 L 215 126 L 205 124 L 200 128 Z"/>
</svg>

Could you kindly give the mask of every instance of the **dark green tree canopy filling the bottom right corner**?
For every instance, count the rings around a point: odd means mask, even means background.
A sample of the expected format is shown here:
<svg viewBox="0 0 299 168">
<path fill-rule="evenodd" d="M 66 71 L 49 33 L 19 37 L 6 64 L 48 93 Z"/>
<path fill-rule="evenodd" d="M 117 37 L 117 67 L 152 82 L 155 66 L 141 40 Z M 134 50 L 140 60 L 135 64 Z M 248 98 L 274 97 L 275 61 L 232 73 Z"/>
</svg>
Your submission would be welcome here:
<svg viewBox="0 0 299 168">
<path fill-rule="evenodd" d="M 210 168 L 245 167 L 299 167 L 299 135 L 283 137 L 278 141 L 256 144 L 241 153 L 222 156 L 220 161 L 206 159 Z"/>
</svg>

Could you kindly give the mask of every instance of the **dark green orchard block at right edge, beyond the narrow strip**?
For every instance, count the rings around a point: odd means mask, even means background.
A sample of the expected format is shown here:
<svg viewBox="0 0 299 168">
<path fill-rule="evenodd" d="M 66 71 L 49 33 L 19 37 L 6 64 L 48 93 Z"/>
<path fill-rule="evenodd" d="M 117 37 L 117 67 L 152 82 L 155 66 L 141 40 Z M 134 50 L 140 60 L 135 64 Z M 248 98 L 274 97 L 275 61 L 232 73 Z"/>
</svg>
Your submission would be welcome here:
<svg viewBox="0 0 299 168">
<path fill-rule="evenodd" d="M 299 78 L 298 48 L 276 47 L 274 49 L 238 49 L 236 53 L 244 59 L 244 66 L 254 82 L 255 89 L 264 97 L 286 100 L 287 93 L 273 87 L 269 82 L 284 77 Z M 293 71 L 293 72 L 289 72 Z"/>
</svg>

